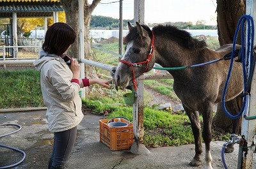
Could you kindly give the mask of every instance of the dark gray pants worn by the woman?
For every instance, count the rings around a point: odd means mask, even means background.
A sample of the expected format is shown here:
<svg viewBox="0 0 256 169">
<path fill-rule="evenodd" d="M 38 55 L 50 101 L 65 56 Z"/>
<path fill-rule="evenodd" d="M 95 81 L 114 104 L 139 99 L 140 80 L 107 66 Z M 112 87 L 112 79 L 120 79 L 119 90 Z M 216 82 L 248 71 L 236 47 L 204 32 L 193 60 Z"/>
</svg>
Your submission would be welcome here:
<svg viewBox="0 0 256 169">
<path fill-rule="evenodd" d="M 77 127 L 54 133 L 52 156 L 48 168 L 65 168 L 76 142 Z"/>
</svg>

